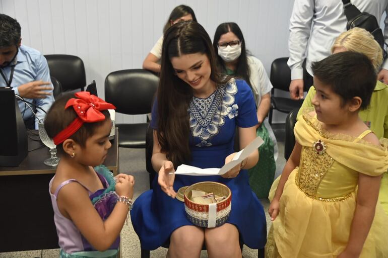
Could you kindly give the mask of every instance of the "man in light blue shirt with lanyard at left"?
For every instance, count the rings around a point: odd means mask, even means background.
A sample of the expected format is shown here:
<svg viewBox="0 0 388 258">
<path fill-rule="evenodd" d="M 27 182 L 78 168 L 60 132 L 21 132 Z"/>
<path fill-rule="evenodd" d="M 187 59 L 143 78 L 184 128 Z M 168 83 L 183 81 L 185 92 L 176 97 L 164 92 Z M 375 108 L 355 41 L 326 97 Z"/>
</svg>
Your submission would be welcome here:
<svg viewBox="0 0 388 258">
<path fill-rule="evenodd" d="M 54 102 L 53 87 L 46 58 L 21 45 L 20 31 L 15 19 L 0 14 L 0 87 L 12 87 L 15 94 L 33 104 L 18 101 L 26 126 L 38 129 L 39 119 Z"/>
</svg>

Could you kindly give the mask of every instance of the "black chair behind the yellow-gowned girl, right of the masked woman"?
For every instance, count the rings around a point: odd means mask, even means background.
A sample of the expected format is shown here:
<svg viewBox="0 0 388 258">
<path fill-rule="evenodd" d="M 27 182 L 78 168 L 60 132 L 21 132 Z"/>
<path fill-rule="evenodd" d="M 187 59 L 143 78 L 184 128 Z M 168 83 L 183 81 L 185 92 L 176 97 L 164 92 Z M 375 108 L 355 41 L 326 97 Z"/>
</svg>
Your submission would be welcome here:
<svg viewBox="0 0 388 258">
<path fill-rule="evenodd" d="M 291 110 L 300 108 L 303 100 L 292 100 L 290 98 L 275 97 L 275 89 L 289 92 L 291 83 L 291 70 L 287 65 L 288 57 L 277 58 L 272 62 L 270 80 L 274 88 L 271 90 L 271 108 L 268 116 L 272 124 L 273 110 L 282 113 L 290 113 Z"/>
</svg>

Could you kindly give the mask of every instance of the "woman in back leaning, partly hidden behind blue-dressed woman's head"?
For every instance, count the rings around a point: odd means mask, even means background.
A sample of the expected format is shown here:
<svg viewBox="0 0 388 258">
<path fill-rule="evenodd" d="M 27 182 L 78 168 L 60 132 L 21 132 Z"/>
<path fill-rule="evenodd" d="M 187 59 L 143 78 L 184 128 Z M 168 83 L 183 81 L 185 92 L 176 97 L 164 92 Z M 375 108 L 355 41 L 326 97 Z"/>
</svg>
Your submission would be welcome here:
<svg viewBox="0 0 388 258">
<path fill-rule="evenodd" d="M 180 5 L 172 10 L 168 20 L 163 28 L 163 34 L 170 28 L 172 25 L 182 21 L 196 21 L 197 18 L 194 14 L 194 11 L 188 6 Z M 143 69 L 151 70 L 154 72 L 160 72 L 160 58 L 162 57 L 162 43 L 163 35 L 158 39 L 155 46 L 148 53 L 146 59 L 143 61 Z"/>
</svg>

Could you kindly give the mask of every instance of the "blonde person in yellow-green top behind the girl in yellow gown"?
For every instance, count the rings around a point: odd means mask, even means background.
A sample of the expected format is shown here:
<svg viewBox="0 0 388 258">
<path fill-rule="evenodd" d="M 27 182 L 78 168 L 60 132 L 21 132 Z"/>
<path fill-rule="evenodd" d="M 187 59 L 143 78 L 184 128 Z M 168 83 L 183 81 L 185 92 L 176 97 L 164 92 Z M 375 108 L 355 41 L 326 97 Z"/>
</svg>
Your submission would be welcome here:
<svg viewBox="0 0 388 258">
<path fill-rule="evenodd" d="M 372 62 L 376 72 L 379 71 L 382 63 L 382 50 L 380 45 L 373 39 L 373 36 L 361 28 L 353 28 L 341 33 L 332 46 L 332 53 L 342 51 L 358 52 L 366 55 Z M 306 99 L 298 112 L 298 118 L 303 108 L 312 107 L 312 99 L 315 95 L 314 87 L 310 87 Z M 377 80 L 374 87 L 369 108 L 361 110 L 358 115 L 364 123 L 376 134 L 378 138 L 388 138 L 388 86 Z M 384 173 L 379 201 L 386 214 L 388 214 L 388 173 Z"/>
</svg>

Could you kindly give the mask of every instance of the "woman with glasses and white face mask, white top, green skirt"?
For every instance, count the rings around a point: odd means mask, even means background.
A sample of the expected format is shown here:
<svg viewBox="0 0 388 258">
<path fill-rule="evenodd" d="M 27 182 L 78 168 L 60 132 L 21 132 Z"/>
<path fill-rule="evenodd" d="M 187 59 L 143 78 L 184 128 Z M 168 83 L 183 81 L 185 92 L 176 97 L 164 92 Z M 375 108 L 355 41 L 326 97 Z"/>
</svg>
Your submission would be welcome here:
<svg viewBox="0 0 388 258">
<path fill-rule="evenodd" d="M 249 185 L 258 198 L 267 198 L 274 182 L 277 141 L 268 123 L 267 115 L 271 106 L 272 84 L 263 63 L 247 54 L 244 36 L 236 23 L 222 23 L 214 34 L 214 51 L 218 53 L 220 70 L 228 75 L 242 78 L 253 92 L 257 107 L 256 135 L 262 137 L 264 144 L 258 148 L 260 159 L 248 169 Z"/>
</svg>

